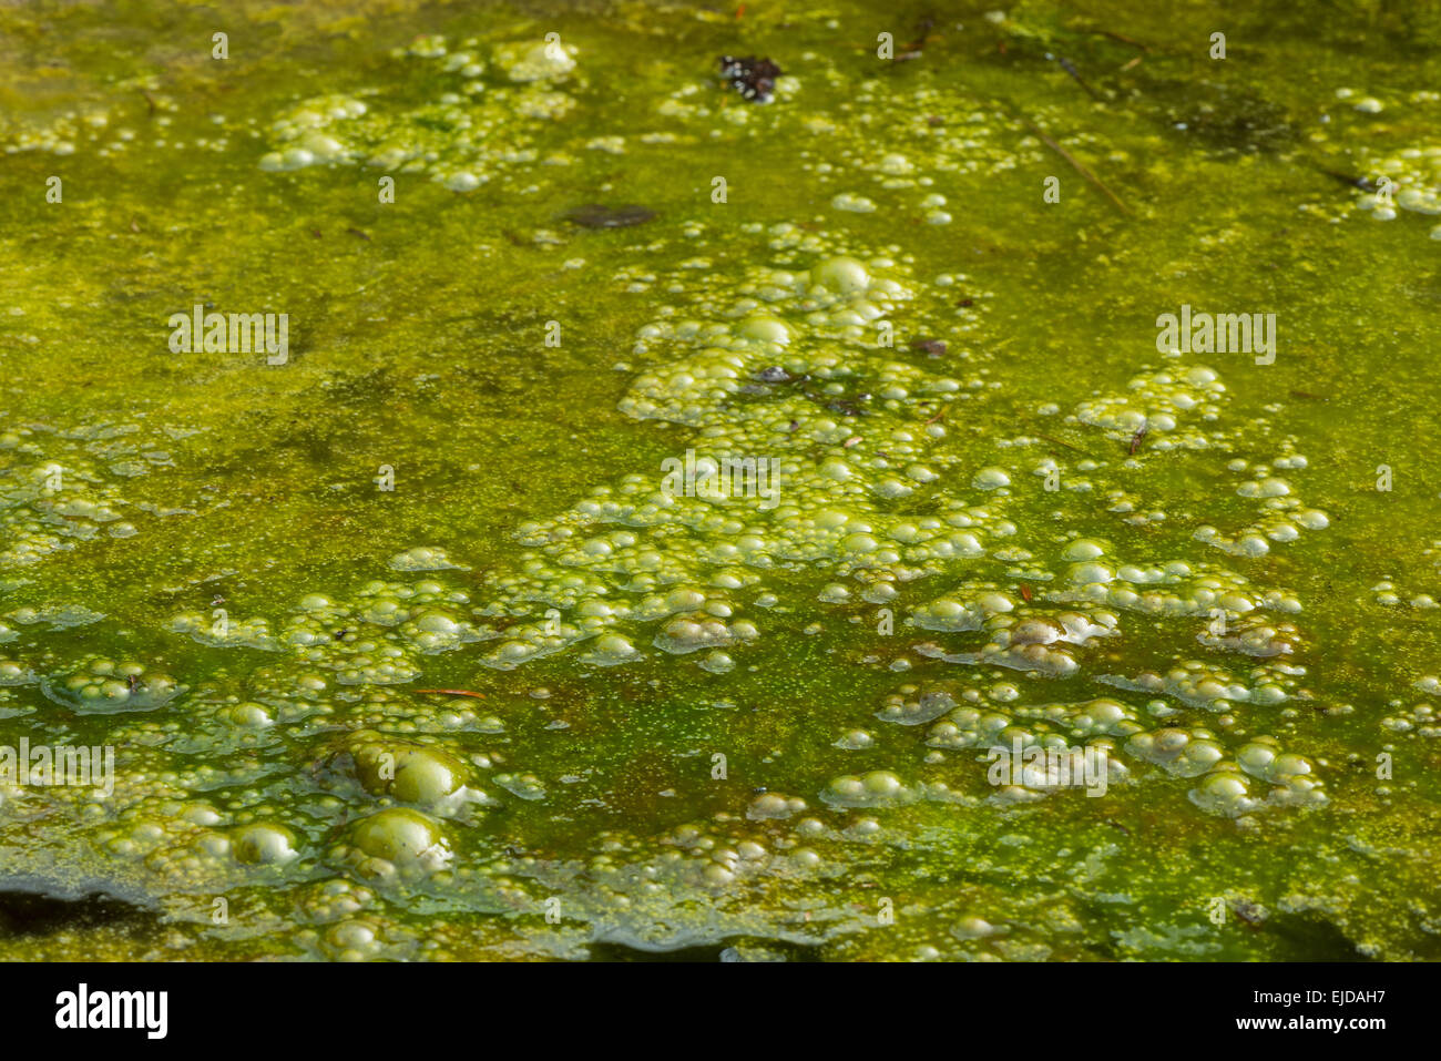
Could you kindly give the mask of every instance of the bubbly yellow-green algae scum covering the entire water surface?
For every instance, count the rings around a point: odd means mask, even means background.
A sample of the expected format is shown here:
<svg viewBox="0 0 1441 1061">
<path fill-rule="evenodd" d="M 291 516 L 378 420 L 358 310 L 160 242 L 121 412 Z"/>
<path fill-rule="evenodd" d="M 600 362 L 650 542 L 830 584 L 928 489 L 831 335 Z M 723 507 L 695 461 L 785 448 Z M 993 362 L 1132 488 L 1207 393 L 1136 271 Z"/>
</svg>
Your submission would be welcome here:
<svg viewBox="0 0 1441 1061">
<path fill-rule="evenodd" d="M 987 10 L 0 13 L 0 957 L 1435 959 L 1441 17 Z"/>
</svg>

